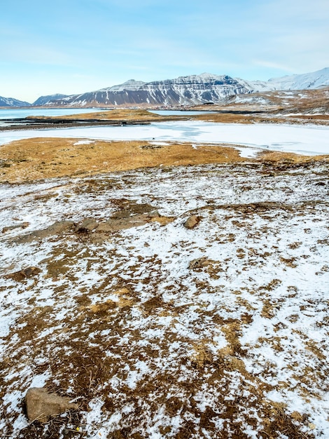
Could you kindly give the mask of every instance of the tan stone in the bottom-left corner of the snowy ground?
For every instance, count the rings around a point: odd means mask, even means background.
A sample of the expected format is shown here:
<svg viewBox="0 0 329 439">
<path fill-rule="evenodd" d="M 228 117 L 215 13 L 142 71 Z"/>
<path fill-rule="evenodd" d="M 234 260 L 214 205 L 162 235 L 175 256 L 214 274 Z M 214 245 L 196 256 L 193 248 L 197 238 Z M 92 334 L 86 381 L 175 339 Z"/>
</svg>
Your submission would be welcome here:
<svg viewBox="0 0 329 439">
<path fill-rule="evenodd" d="M 47 422 L 48 419 L 66 410 L 77 410 L 78 405 L 70 403 L 70 398 L 48 393 L 42 387 L 31 387 L 25 396 L 29 421 Z"/>
</svg>

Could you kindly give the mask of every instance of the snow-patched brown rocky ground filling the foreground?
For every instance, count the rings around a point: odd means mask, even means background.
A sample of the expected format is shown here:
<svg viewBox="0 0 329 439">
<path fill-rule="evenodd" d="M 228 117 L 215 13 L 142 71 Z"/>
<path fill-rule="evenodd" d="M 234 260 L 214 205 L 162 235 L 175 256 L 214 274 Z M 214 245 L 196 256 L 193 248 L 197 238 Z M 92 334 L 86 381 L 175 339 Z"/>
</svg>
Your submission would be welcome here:
<svg viewBox="0 0 329 439">
<path fill-rule="evenodd" d="M 3 176 L 1 437 L 328 437 L 329 163 L 292 157 Z"/>
</svg>

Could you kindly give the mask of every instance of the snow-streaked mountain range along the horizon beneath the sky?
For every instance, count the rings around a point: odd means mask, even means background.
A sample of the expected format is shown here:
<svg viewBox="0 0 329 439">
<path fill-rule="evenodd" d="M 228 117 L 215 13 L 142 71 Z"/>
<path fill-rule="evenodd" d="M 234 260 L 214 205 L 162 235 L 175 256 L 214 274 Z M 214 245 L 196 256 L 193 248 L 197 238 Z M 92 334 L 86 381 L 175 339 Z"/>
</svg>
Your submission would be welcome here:
<svg viewBox="0 0 329 439">
<path fill-rule="evenodd" d="M 33 104 L 0 97 L 0 107 L 155 107 L 223 102 L 227 97 L 270 90 L 304 90 L 329 86 L 329 68 L 307 74 L 246 81 L 203 73 L 165 81 L 134 81 L 80 95 L 48 95 Z"/>
</svg>

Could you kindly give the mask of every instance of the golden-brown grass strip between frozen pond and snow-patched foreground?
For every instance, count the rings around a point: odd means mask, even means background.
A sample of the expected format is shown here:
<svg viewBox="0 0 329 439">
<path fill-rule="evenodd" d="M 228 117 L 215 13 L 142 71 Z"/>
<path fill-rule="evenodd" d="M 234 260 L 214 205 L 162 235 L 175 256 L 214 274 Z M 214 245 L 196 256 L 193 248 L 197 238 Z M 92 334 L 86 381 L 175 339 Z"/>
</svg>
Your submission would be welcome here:
<svg viewBox="0 0 329 439">
<path fill-rule="evenodd" d="M 51 177 L 93 175 L 97 173 L 155 166 L 188 166 L 206 163 L 245 161 L 232 145 L 190 143 L 152 145 L 151 142 L 110 142 L 95 140 L 78 143 L 76 139 L 35 138 L 1 147 L 0 182 L 27 182 Z M 299 156 L 265 151 L 253 161 L 301 163 L 328 161 L 329 156 Z M 251 161 L 251 159 L 248 159 Z"/>
</svg>

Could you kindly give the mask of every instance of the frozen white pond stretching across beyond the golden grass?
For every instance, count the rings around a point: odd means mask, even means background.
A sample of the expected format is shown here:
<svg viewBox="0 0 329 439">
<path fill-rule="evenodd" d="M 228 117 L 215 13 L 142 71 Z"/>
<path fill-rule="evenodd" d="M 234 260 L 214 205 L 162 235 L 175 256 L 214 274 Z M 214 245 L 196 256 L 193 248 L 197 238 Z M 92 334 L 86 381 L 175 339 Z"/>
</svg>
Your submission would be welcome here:
<svg viewBox="0 0 329 439">
<path fill-rule="evenodd" d="M 102 126 L 0 132 L 0 144 L 31 137 L 69 137 L 99 140 L 154 140 L 239 144 L 248 148 L 329 154 L 329 127 L 288 124 L 238 124 L 174 121 L 141 126 Z"/>
</svg>

